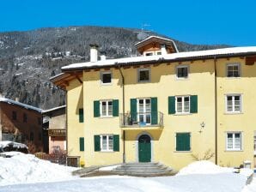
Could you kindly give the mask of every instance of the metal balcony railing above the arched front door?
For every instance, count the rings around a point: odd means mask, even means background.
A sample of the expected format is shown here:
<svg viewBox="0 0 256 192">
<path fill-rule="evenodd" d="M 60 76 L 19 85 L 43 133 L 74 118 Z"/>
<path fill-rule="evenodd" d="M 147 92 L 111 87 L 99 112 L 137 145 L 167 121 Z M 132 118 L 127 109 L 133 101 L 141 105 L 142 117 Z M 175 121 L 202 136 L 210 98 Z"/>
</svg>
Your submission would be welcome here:
<svg viewBox="0 0 256 192">
<path fill-rule="evenodd" d="M 120 127 L 163 127 L 162 112 L 120 113 Z"/>
</svg>

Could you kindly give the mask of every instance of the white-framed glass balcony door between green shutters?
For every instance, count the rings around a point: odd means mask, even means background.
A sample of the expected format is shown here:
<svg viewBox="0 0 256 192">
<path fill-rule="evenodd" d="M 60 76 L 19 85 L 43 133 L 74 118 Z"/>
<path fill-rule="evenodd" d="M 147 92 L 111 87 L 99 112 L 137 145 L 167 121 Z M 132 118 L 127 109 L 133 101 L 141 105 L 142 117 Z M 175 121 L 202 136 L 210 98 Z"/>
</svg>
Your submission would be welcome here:
<svg viewBox="0 0 256 192">
<path fill-rule="evenodd" d="M 151 123 L 151 99 L 137 99 L 137 119 L 139 123 Z"/>
</svg>

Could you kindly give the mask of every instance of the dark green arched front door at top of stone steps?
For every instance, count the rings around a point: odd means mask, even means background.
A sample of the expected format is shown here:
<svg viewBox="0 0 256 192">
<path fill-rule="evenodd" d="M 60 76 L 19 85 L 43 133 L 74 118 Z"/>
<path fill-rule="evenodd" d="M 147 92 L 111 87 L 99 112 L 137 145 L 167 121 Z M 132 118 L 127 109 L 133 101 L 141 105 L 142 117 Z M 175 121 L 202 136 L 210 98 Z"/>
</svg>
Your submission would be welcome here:
<svg viewBox="0 0 256 192">
<path fill-rule="evenodd" d="M 141 135 L 138 138 L 138 161 L 151 161 L 151 143 L 149 135 Z"/>
</svg>

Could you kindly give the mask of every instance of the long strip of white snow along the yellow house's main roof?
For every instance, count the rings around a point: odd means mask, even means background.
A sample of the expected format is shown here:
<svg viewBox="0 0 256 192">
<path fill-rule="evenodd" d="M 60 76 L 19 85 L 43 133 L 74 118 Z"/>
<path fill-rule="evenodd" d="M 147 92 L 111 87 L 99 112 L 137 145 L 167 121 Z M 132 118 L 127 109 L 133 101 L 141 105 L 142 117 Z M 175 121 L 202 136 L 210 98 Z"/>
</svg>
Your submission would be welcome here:
<svg viewBox="0 0 256 192">
<path fill-rule="evenodd" d="M 143 63 L 143 62 L 158 62 L 158 61 L 172 61 L 178 59 L 189 59 L 192 57 L 215 57 L 235 54 L 256 54 L 256 46 L 248 47 L 233 47 L 206 51 L 187 51 L 177 52 L 160 56 L 141 56 L 141 57 L 125 57 L 117 59 L 107 59 L 105 61 L 87 62 L 87 63 L 73 63 L 62 67 L 63 70 L 69 69 L 86 69 L 86 68 L 101 68 L 105 66 L 113 66 L 115 64 L 129 64 L 129 63 Z"/>
</svg>

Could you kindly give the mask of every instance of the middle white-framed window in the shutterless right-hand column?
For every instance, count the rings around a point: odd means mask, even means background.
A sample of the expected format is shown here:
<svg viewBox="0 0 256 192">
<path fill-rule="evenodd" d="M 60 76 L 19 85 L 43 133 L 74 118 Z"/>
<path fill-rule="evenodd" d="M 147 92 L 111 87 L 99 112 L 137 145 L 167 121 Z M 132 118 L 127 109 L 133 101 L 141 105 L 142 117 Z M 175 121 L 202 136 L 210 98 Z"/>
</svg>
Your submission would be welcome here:
<svg viewBox="0 0 256 192">
<path fill-rule="evenodd" d="M 241 112 L 241 95 L 240 94 L 226 96 L 226 111 Z"/>
</svg>

